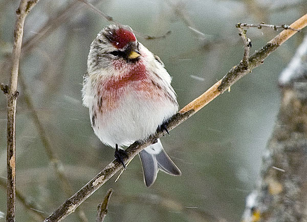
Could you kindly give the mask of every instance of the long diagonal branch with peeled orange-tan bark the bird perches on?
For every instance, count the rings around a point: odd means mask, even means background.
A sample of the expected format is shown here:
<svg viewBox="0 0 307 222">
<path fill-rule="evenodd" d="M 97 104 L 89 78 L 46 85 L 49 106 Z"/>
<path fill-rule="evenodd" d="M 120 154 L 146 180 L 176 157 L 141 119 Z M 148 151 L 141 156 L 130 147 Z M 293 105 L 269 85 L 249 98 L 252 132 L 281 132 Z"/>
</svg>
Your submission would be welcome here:
<svg viewBox="0 0 307 222">
<path fill-rule="evenodd" d="M 291 26 L 293 28 L 302 29 L 307 25 L 307 14 L 299 18 Z M 209 88 L 204 94 L 194 99 L 191 103 L 181 109 L 177 114 L 172 116 L 167 124 L 167 129 L 172 130 L 181 123 L 183 123 L 190 116 L 195 114 L 205 105 L 207 105 L 216 96 L 222 94 L 226 89 L 233 85 L 238 79 L 242 78 L 247 73 L 251 72 L 252 69 L 264 63 L 264 59 L 275 51 L 283 42 L 290 38 L 296 32 L 293 30 L 284 30 L 275 38 L 273 38 L 265 47 L 255 52 L 249 57 L 249 69 L 246 69 L 242 63 L 232 68 L 226 76 L 215 83 Z M 146 148 L 148 145 L 155 143 L 158 138 L 163 135 L 163 132 L 158 131 L 155 135 L 151 135 L 147 140 L 143 142 L 135 142 L 129 146 L 126 151 L 128 153 L 128 159 L 125 160 L 127 163 L 130 159 L 133 159 L 140 151 Z M 122 168 L 122 165 L 117 160 L 109 163 L 99 174 L 97 174 L 89 183 L 82 187 L 77 193 L 71 198 L 65 201 L 57 210 L 55 210 L 45 222 L 59 221 L 72 212 L 89 196 L 91 196 L 99 187 L 101 187 L 109 178 L 117 173 Z"/>
</svg>

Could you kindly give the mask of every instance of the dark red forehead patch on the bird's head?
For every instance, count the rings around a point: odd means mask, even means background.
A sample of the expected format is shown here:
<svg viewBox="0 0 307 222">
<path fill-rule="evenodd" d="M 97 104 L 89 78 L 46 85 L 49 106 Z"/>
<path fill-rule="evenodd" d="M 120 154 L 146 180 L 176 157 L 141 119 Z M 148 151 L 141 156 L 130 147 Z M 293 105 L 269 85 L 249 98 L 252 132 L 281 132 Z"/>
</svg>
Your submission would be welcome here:
<svg viewBox="0 0 307 222">
<path fill-rule="evenodd" d="M 129 30 L 119 28 L 115 30 L 112 38 L 112 45 L 118 49 L 124 48 L 128 43 L 135 42 L 136 36 Z"/>
</svg>

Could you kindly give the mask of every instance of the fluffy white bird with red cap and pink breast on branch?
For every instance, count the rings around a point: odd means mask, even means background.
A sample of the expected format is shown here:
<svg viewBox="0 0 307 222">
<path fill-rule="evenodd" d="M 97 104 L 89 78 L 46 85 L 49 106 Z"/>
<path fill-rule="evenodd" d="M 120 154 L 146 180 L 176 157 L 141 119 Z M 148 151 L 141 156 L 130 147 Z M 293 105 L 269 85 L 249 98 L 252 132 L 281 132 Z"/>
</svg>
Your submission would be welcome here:
<svg viewBox="0 0 307 222">
<path fill-rule="evenodd" d="M 89 108 L 93 130 L 115 148 L 126 168 L 125 147 L 164 129 L 179 105 L 171 77 L 161 59 L 137 41 L 129 26 L 108 25 L 91 44 L 83 76 L 82 103 Z M 158 171 L 181 175 L 160 139 L 139 153 L 144 182 L 150 187 Z"/>
</svg>

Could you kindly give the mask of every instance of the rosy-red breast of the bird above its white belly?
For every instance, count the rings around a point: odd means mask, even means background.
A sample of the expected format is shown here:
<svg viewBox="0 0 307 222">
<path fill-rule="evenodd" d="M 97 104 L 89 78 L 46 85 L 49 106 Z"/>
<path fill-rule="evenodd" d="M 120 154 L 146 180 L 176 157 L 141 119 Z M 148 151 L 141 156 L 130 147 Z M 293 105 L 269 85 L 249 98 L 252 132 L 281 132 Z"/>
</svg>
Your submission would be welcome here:
<svg viewBox="0 0 307 222">
<path fill-rule="evenodd" d="M 125 70 L 98 83 L 96 99 L 100 113 L 119 108 L 126 104 L 125 99 L 134 98 L 131 100 L 131 106 L 134 106 L 133 103 L 157 103 L 165 97 L 165 92 L 148 74 L 145 65 L 135 64 Z"/>
</svg>

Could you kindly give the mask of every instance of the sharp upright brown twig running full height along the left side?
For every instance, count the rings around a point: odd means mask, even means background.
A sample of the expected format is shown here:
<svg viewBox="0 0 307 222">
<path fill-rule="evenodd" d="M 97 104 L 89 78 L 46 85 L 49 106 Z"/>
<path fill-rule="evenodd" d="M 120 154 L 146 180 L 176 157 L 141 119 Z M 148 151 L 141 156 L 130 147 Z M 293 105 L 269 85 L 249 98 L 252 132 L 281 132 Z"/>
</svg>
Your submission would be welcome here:
<svg viewBox="0 0 307 222">
<path fill-rule="evenodd" d="M 21 0 L 16 10 L 17 19 L 14 29 L 14 45 L 12 52 L 12 70 L 10 84 L 7 93 L 7 221 L 15 221 L 15 120 L 16 120 L 16 100 L 17 79 L 19 70 L 19 58 L 21 43 L 23 41 L 24 24 L 27 14 L 39 0 Z"/>
</svg>

